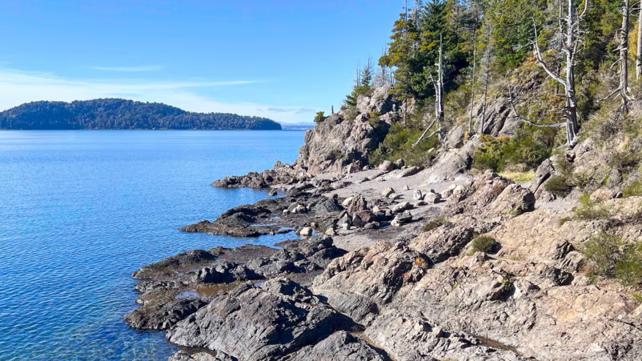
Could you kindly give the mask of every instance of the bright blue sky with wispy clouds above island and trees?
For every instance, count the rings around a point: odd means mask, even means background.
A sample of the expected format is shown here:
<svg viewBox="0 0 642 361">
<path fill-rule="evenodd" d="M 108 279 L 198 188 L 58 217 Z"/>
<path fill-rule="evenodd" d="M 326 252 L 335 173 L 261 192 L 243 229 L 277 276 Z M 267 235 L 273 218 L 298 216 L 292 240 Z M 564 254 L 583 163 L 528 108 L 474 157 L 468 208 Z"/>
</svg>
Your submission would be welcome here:
<svg viewBox="0 0 642 361">
<path fill-rule="evenodd" d="M 0 0 L 0 110 L 129 98 L 291 123 L 338 109 L 403 0 Z"/>
</svg>

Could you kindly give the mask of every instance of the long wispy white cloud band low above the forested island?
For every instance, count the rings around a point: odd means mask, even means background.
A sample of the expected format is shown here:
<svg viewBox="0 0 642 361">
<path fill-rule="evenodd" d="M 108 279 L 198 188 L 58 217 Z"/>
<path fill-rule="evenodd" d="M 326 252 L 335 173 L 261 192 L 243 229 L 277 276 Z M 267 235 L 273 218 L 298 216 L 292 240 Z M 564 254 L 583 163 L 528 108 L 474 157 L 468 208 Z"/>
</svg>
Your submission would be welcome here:
<svg viewBox="0 0 642 361">
<path fill-rule="evenodd" d="M 280 123 L 311 121 L 302 114 L 308 107 L 284 107 L 259 103 L 226 103 L 195 94 L 196 89 L 257 83 L 256 80 L 224 82 L 149 82 L 132 80 L 71 80 L 51 73 L 33 73 L 0 67 L 0 110 L 30 101 L 73 101 L 96 98 L 126 98 L 166 103 L 191 112 L 228 112 L 263 116 Z"/>
</svg>

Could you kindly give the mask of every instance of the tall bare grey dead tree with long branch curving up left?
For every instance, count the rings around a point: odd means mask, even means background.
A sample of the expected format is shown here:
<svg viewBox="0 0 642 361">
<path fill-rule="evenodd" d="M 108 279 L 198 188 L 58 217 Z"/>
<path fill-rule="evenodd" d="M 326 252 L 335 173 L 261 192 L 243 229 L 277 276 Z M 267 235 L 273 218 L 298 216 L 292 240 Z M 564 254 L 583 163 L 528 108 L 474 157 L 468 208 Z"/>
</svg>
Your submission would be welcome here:
<svg viewBox="0 0 642 361">
<path fill-rule="evenodd" d="M 579 123 L 577 121 L 577 96 L 575 93 L 575 55 L 577 55 L 578 47 L 582 42 L 580 35 L 580 22 L 584 19 L 586 15 L 586 10 L 588 7 L 588 0 L 584 2 L 584 10 L 581 13 L 576 15 L 575 6 L 573 6 L 573 0 L 568 0 L 568 8 L 566 14 L 564 15 L 564 45 L 562 46 L 562 52 L 566 54 L 566 62 L 564 64 L 566 77 L 558 76 L 553 71 L 550 70 L 546 62 L 544 62 L 544 57 L 542 56 L 542 51 L 539 48 L 539 42 L 537 40 L 537 24 L 535 24 L 535 19 L 533 19 L 533 25 L 535 28 L 535 39 L 533 40 L 533 46 L 535 49 L 535 57 L 537 58 L 537 63 L 544 69 L 546 74 L 550 76 L 553 80 L 558 82 L 564 87 L 564 119 L 566 121 L 566 145 L 571 146 L 575 145 L 576 137 L 580 131 Z"/>
</svg>

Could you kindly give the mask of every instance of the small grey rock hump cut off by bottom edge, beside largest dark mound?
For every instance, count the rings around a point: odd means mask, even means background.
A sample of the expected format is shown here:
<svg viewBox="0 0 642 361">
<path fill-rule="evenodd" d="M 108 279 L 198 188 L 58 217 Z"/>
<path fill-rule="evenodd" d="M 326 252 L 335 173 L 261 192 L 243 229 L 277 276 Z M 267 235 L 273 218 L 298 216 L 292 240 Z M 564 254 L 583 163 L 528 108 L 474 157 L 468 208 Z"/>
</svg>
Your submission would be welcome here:
<svg viewBox="0 0 642 361">
<path fill-rule="evenodd" d="M 390 357 L 383 351 L 357 339 L 346 331 L 337 331 L 296 353 L 290 361 L 388 361 Z"/>
</svg>

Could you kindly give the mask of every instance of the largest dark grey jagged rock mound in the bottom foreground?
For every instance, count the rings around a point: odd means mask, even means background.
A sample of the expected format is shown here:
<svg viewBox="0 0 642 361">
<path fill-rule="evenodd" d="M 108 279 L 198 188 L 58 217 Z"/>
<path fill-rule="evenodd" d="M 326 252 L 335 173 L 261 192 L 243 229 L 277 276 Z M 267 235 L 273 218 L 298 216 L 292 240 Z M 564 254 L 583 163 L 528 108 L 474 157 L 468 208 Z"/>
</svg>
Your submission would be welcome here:
<svg viewBox="0 0 642 361">
<path fill-rule="evenodd" d="M 168 331 L 169 342 L 244 361 L 282 357 L 350 326 L 346 317 L 288 279 L 220 294 Z"/>
</svg>

